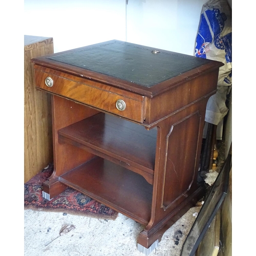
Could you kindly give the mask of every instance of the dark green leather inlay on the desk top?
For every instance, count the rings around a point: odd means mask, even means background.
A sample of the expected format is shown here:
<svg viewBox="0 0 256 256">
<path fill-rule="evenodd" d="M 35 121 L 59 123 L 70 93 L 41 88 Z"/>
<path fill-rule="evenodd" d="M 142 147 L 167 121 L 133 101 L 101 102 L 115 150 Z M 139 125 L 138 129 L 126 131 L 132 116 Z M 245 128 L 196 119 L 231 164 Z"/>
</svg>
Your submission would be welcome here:
<svg viewBox="0 0 256 256">
<path fill-rule="evenodd" d="M 152 87 L 208 62 L 195 56 L 158 51 L 152 53 L 152 48 L 114 40 L 49 59 L 144 87 Z"/>
</svg>

